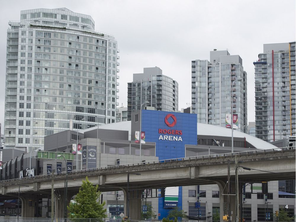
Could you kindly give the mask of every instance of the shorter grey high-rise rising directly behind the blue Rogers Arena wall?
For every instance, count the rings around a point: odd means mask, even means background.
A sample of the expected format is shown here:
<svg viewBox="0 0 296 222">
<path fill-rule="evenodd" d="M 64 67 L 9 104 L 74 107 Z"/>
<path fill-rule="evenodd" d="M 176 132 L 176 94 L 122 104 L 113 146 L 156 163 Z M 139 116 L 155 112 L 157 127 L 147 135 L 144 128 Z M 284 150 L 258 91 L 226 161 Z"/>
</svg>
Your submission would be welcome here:
<svg viewBox="0 0 296 222">
<path fill-rule="evenodd" d="M 133 82 L 128 83 L 128 120 L 146 101 L 155 110 L 178 111 L 178 83 L 162 73 L 159 67 L 152 67 L 133 74 Z"/>
</svg>

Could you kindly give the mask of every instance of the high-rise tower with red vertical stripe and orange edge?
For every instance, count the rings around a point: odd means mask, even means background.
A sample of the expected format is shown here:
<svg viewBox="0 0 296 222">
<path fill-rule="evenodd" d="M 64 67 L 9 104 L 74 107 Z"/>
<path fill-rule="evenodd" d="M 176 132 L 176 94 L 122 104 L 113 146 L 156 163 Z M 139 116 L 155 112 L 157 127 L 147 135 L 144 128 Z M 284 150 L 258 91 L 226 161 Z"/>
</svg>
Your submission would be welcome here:
<svg viewBox="0 0 296 222">
<path fill-rule="evenodd" d="M 295 41 L 263 44 L 254 65 L 256 137 L 295 136 Z"/>
</svg>

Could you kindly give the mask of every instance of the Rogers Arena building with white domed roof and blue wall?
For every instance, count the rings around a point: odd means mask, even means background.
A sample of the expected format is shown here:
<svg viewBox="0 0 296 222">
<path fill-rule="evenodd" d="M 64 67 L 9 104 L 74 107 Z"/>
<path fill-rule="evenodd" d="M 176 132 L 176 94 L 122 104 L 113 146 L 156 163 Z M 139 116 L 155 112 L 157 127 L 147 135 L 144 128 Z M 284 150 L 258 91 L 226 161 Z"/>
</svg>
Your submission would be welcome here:
<svg viewBox="0 0 296 222">
<path fill-rule="evenodd" d="M 80 170 L 81 167 L 83 170 L 93 170 L 92 168 L 117 167 L 116 165 L 140 163 L 142 161 L 149 164 L 150 161 L 169 158 L 194 156 L 207 158 L 208 154 L 219 155 L 231 152 L 231 133 L 229 129 L 204 123 L 196 124 L 196 115 L 194 114 L 142 110 L 142 115 L 140 111 L 133 112 L 131 119 L 131 121 L 105 124 L 79 131 L 78 142 L 83 147 L 82 152 L 84 149 L 86 157 L 90 157 L 92 154 L 91 159 L 82 161 L 82 165 L 81 155 L 78 155 L 77 161 L 76 157 L 73 157 L 73 154 L 71 155 L 73 144 L 76 144 L 76 131 L 67 130 L 46 136 L 44 151 L 33 153 L 32 168 L 35 169 L 35 175 L 47 174 L 48 169 L 52 170 L 53 173 L 58 173 L 58 166 L 60 166 L 62 172 L 66 170 L 64 161 L 57 159 L 56 156 L 49 160 L 42 158 L 42 152 L 54 153 L 54 155 L 68 155 L 68 162 L 71 162 L 71 170 L 73 171 Z M 134 139 L 135 131 L 139 130 L 140 119 L 142 120 L 142 131 L 145 132 L 145 144 L 141 146 L 141 157 L 139 143 L 135 143 Z M 257 149 L 262 148 L 277 149 L 270 143 L 240 131 L 234 131 L 234 144 L 234 152 L 255 152 Z M 95 155 L 93 155 L 94 153 Z M 1 179 L 19 178 L 20 172 L 26 177 L 29 158 L 29 154 L 24 154 L 5 162 L 3 170 L 1 170 Z M 227 171 L 227 169 L 219 169 L 219 172 L 221 170 Z M 143 176 L 144 172 L 141 175 Z M 71 183 L 73 184 L 73 182 Z M 71 186 L 71 183 L 69 182 L 69 186 Z M 287 211 L 289 214 L 295 214 L 295 180 L 268 181 L 267 187 L 266 201 L 262 193 L 263 187 L 261 183 L 255 183 L 252 186 L 246 184 L 244 186 L 245 197 L 242 196 L 242 214 L 245 221 L 267 221 L 265 220 L 266 212 L 286 209 L 286 205 L 288 205 Z M 69 190 L 71 189 L 69 188 Z M 189 220 L 198 220 L 198 215 L 200 215 L 201 220 L 206 221 L 207 217 L 212 218 L 216 212 L 223 212 L 221 208 L 221 201 L 223 201 L 222 189 L 223 187 L 219 188 L 217 184 L 167 187 L 165 196 L 168 194 L 167 191 L 170 194 L 177 194 L 177 198 L 174 197 L 175 202 L 178 203 L 178 207 L 181 207 L 186 212 Z M 251 191 L 253 192 L 251 193 Z M 116 216 L 116 187 L 102 194 L 102 199 L 106 201 L 105 207 L 108 218 L 113 218 Z M 118 190 L 118 194 L 120 199 L 117 200 L 117 204 L 119 205 L 118 214 L 120 214 L 124 212 L 126 207 L 126 202 L 124 202 L 126 197 L 123 190 Z M 4 202 L 1 198 L 2 196 L 0 197 L 0 206 L 1 202 Z M 139 202 L 141 205 L 145 205 L 144 196 L 143 199 L 144 201 Z M 39 215 L 44 217 L 48 215 L 50 217 L 50 195 L 43 192 L 36 195 L 36 202 L 37 200 L 42 204 L 36 206 L 36 212 L 38 210 Z M 200 202 L 198 210 L 195 207 L 197 200 Z M 152 204 L 153 210 L 157 214 L 155 218 L 157 220 L 165 217 L 171 209 L 165 207 L 169 204 L 165 197 L 147 199 L 146 203 Z M 61 204 L 60 200 L 55 203 L 55 206 L 59 207 L 59 204 Z M 16 212 L 16 209 L 9 205 L 4 205 L 1 210 L 0 216 L 8 215 L 9 212 Z M 272 213 L 269 221 L 273 221 Z"/>
</svg>

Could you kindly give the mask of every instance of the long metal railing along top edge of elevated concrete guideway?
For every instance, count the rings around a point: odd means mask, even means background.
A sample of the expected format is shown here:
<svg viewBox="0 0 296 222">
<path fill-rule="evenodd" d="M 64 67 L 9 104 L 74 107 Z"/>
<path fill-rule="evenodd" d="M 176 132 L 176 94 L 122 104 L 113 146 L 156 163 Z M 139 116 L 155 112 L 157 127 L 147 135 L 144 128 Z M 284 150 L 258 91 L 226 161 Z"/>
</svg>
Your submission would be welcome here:
<svg viewBox="0 0 296 222">
<path fill-rule="evenodd" d="M 68 172 L 68 176 L 72 173 L 81 173 L 81 172 L 90 172 L 95 170 L 107 170 L 107 169 L 118 169 L 122 167 L 128 167 L 128 166 L 141 166 L 141 165 L 148 165 L 148 164 L 159 164 L 159 163 L 168 163 L 172 161 L 186 161 L 186 160 L 197 160 L 197 159 L 205 159 L 205 158 L 215 158 L 215 157 L 232 157 L 234 155 L 250 155 L 250 154 L 260 154 L 260 153 L 268 153 L 268 152 L 280 152 L 284 150 L 295 150 L 295 146 L 293 147 L 282 147 L 282 148 L 275 148 L 275 149 L 257 149 L 257 150 L 251 150 L 251 151 L 240 151 L 240 152 L 229 152 L 229 153 L 222 153 L 222 154 L 210 154 L 210 155 L 202 155 L 202 156 L 193 156 L 193 157 L 180 157 L 180 158 L 173 158 L 173 159 L 166 159 L 166 160 L 154 160 L 154 161 L 148 161 L 148 162 L 142 162 L 142 163 L 130 163 L 130 164 L 123 164 L 123 165 L 113 165 L 113 166 L 105 166 L 105 167 L 99 167 L 99 168 L 89 168 L 89 169 L 83 169 L 83 170 L 73 170 Z M 54 175 L 66 175 L 66 172 L 62 173 L 54 173 Z M 33 177 L 24 177 L 24 178 L 16 178 L 16 179 L 10 179 L 10 180 L 2 180 L 1 182 L 10 182 L 10 181 L 20 181 L 28 178 L 46 178 L 50 175 L 38 175 Z M 0 221 L 1 222 L 1 221 Z"/>
</svg>

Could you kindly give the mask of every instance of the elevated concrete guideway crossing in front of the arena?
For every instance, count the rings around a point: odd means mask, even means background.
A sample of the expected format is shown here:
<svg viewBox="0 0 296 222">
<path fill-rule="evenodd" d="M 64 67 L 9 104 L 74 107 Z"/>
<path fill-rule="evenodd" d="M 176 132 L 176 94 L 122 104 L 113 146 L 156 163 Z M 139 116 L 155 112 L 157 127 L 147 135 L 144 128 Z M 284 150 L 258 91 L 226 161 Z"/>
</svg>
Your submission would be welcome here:
<svg viewBox="0 0 296 222">
<path fill-rule="evenodd" d="M 256 150 L 78 170 L 68 173 L 68 190 L 69 192 L 77 193 L 82 180 L 88 176 L 93 184 L 99 184 L 99 190 L 102 192 L 122 189 L 126 194 L 127 173 L 141 173 L 141 175 L 129 175 L 130 190 L 218 184 L 220 193 L 227 194 L 228 191 L 225 187 L 228 181 L 228 160 L 231 163 L 230 175 L 234 178 L 235 156 L 240 166 L 254 169 L 244 170 L 240 167 L 238 173 L 240 183 L 295 179 L 296 156 L 295 147 L 293 147 L 292 149 Z M 64 179 L 65 173 L 54 175 L 55 190 L 63 192 Z M 50 194 L 51 178 L 50 176 L 42 175 L 33 178 L 2 181 L 0 183 L 0 187 L 2 188 L 0 189 L 0 197 L 15 196 L 15 193 L 18 193 L 19 185 L 23 184 L 29 185 L 29 187 L 21 187 L 23 192 L 27 191 L 25 194 Z M 126 195 L 124 196 L 126 197 Z M 225 197 L 220 195 L 220 209 L 223 209 L 223 202 L 227 202 Z M 137 202 L 135 201 L 135 203 Z M 235 210 L 235 207 L 231 207 L 231 209 Z M 221 215 L 225 213 L 227 212 L 221 210 Z"/>
</svg>

